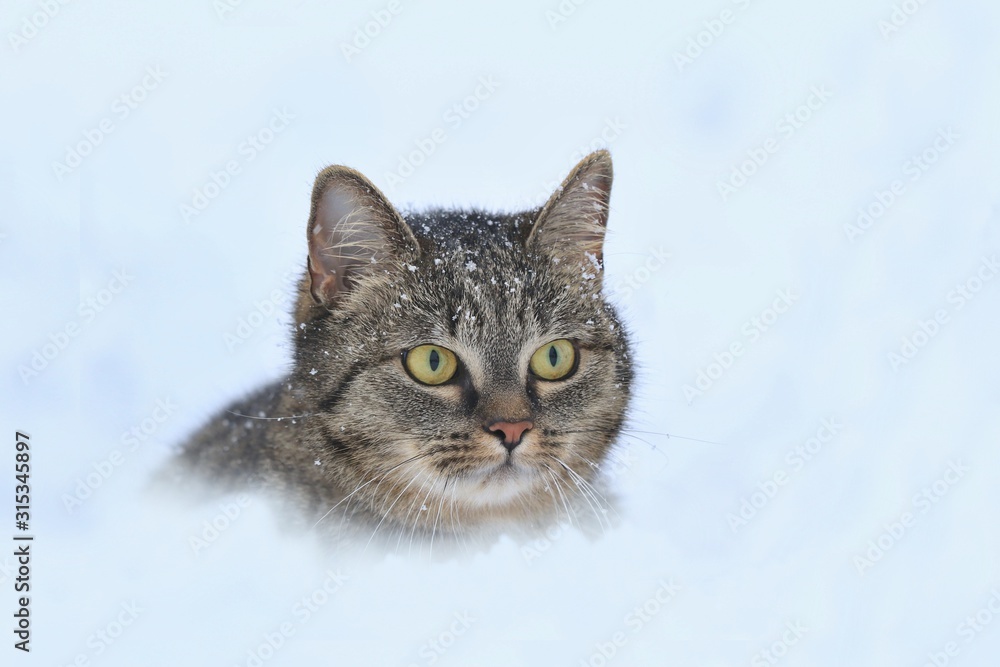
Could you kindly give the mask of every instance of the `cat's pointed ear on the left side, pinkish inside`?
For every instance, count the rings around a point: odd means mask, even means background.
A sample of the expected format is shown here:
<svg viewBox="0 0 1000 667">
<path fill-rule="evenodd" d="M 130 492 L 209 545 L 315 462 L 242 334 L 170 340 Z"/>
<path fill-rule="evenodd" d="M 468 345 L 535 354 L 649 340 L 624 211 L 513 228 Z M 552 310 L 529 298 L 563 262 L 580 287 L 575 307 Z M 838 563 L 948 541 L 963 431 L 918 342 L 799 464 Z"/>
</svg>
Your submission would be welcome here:
<svg viewBox="0 0 1000 667">
<path fill-rule="evenodd" d="M 371 181 L 348 167 L 327 167 L 316 177 L 306 233 L 309 292 L 327 307 L 385 262 L 419 254 L 403 217 Z"/>
</svg>

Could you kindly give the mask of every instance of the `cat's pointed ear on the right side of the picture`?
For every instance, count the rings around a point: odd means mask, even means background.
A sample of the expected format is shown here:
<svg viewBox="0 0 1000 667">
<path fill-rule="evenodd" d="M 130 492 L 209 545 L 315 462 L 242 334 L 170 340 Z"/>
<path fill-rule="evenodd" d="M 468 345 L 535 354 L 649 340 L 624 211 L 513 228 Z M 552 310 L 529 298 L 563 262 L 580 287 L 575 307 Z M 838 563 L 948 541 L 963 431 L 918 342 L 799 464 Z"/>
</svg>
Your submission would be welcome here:
<svg viewBox="0 0 1000 667">
<path fill-rule="evenodd" d="M 574 263 L 588 262 L 588 254 L 600 262 L 613 177 L 609 152 L 583 158 L 542 207 L 527 247 Z"/>
</svg>

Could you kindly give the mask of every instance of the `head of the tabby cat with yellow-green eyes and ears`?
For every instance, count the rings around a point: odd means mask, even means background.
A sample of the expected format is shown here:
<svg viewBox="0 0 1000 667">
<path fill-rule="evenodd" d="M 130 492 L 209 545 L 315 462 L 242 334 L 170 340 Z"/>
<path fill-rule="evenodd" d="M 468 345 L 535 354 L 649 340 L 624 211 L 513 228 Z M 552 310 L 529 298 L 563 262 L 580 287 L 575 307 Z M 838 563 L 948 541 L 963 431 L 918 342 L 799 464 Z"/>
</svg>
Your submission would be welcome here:
<svg viewBox="0 0 1000 667">
<path fill-rule="evenodd" d="M 355 509 L 440 532 L 601 511 L 632 381 L 601 291 L 611 181 L 599 151 L 541 209 L 402 215 L 319 174 L 293 379 Z"/>
</svg>

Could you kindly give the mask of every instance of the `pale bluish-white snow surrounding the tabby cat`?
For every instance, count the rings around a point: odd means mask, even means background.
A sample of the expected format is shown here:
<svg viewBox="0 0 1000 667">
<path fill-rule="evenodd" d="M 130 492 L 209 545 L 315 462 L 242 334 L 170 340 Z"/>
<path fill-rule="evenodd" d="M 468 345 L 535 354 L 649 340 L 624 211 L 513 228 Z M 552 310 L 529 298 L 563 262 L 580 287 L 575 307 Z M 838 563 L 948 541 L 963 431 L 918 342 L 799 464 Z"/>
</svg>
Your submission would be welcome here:
<svg viewBox="0 0 1000 667">
<path fill-rule="evenodd" d="M 995 3 L 232 4 L 4 6 L 0 533 L 20 429 L 37 537 L 27 656 L 0 551 L 3 664 L 254 665 L 268 635 L 269 667 L 998 664 L 1000 280 L 977 282 L 1000 253 Z M 348 62 L 371 12 L 391 21 Z M 516 208 L 604 144 L 606 285 L 641 363 L 619 527 L 351 564 L 234 498 L 196 554 L 223 510 L 143 496 L 186 433 L 286 368 L 319 169 L 351 165 L 400 205 Z M 390 176 L 418 145 L 433 153 Z M 213 173 L 226 186 L 185 221 Z M 920 347 L 893 364 L 904 337 Z M 349 577 L 329 595 L 328 571 Z"/>
</svg>

